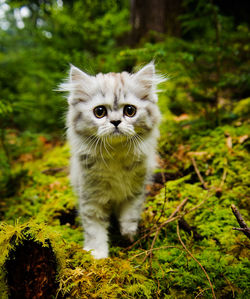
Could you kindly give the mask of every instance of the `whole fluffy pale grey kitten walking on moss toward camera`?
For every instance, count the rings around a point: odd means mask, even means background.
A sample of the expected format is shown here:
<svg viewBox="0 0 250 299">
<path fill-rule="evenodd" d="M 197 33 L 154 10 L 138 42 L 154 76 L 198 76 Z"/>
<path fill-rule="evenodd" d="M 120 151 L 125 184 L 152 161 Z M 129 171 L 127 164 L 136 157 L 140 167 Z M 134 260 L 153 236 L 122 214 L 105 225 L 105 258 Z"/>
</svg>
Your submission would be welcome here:
<svg viewBox="0 0 250 299">
<path fill-rule="evenodd" d="M 70 179 L 79 197 L 84 249 L 96 259 L 108 256 L 111 213 L 124 237 L 136 234 L 145 185 L 156 166 L 156 86 L 163 81 L 153 63 L 134 74 L 96 76 L 72 65 L 60 86 L 69 92 Z"/>
</svg>

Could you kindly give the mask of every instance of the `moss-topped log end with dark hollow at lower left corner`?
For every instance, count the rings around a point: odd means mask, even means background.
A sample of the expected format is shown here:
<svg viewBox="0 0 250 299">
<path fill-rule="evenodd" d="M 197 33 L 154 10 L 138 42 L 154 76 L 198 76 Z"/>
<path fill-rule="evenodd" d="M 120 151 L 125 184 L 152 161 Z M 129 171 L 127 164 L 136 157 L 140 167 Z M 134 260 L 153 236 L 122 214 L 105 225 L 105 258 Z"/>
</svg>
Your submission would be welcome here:
<svg viewBox="0 0 250 299">
<path fill-rule="evenodd" d="M 44 225 L 1 224 L 1 298 L 55 298 L 61 259 L 52 244 L 55 236 Z"/>
</svg>

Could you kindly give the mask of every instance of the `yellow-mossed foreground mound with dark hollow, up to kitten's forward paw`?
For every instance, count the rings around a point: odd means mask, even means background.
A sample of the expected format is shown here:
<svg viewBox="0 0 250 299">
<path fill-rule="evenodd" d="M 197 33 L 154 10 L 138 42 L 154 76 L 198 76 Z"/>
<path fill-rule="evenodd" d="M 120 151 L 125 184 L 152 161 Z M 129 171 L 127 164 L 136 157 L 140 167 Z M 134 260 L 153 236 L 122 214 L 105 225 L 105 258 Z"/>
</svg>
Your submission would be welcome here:
<svg viewBox="0 0 250 299">
<path fill-rule="evenodd" d="M 33 221 L 2 223 L 0 251 L 1 299 L 151 298 L 155 291 L 153 281 L 129 261 L 95 261 L 81 246 L 67 246 Z"/>
</svg>

